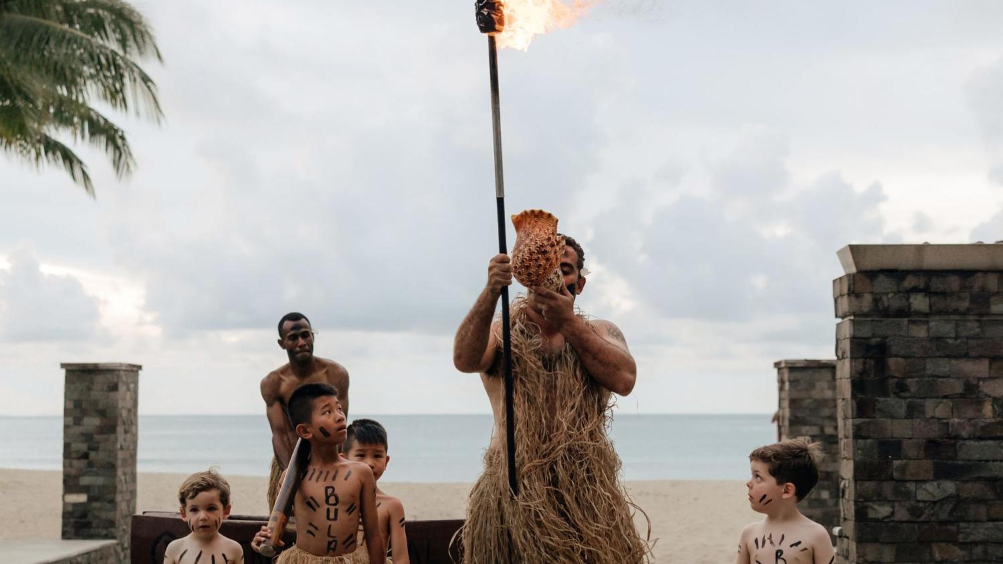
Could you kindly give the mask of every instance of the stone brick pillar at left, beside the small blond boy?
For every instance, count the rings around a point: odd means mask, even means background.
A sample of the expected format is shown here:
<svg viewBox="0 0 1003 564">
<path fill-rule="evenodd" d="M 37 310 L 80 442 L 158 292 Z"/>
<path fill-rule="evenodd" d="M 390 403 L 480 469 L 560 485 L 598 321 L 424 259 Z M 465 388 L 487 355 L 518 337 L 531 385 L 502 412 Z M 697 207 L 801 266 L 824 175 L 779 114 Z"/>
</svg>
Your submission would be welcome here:
<svg viewBox="0 0 1003 564">
<path fill-rule="evenodd" d="M 64 539 L 118 541 L 129 557 L 135 513 L 137 364 L 62 364 Z"/>
</svg>

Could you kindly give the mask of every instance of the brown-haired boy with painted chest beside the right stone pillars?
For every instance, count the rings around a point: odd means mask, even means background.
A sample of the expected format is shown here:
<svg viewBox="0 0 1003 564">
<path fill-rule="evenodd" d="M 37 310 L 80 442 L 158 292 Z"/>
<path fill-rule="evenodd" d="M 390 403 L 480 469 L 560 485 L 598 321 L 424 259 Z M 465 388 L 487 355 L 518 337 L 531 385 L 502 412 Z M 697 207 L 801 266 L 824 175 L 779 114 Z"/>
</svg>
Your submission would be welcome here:
<svg viewBox="0 0 1003 564">
<path fill-rule="evenodd" d="M 742 531 L 737 564 L 832 564 L 828 533 L 797 511 L 818 483 L 821 447 L 805 437 L 760 447 L 749 455 L 749 506 L 766 516 Z"/>
</svg>

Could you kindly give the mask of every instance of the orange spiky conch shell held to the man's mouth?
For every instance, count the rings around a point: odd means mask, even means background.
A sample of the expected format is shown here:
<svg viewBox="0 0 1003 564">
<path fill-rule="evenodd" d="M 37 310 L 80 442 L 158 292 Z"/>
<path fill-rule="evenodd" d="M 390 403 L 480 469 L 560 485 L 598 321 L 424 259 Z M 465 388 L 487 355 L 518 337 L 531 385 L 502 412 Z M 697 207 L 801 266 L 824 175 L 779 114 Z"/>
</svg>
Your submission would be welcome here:
<svg viewBox="0 0 1003 564">
<path fill-rule="evenodd" d="M 558 235 L 558 219 L 543 210 L 526 210 L 513 216 L 512 223 L 516 226 L 516 246 L 512 249 L 516 280 L 527 288 L 542 286 L 561 291 L 565 240 Z"/>
</svg>

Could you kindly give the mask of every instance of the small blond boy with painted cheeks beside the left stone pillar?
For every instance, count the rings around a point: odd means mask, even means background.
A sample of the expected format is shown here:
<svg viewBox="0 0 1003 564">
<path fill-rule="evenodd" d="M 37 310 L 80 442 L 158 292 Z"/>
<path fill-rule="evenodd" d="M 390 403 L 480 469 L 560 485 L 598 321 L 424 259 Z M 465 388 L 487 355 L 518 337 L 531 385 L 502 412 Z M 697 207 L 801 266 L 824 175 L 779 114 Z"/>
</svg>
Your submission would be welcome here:
<svg viewBox="0 0 1003 564">
<path fill-rule="evenodd" d="M 178 501 L 192 533 L 168 545 L 164 564 L 244 561 L 241 545 L 220 534 L 223 520 L 230 516 L 230 484 L 222 476 L 213 469 L 193 474 L 178 491 Z"/>
</svg>

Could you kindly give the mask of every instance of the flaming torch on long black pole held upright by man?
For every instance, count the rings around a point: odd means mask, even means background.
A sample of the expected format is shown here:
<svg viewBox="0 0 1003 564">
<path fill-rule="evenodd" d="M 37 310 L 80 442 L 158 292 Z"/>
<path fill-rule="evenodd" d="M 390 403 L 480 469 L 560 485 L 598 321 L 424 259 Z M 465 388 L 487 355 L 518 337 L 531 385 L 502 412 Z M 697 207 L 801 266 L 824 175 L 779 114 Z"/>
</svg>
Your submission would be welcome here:
<svg viewBox="0 0 1003 564">
<path fill-rule="evenodd" d="M 555 27 L 567 27 L 585 11 L 587 3 L 572 6 L 558 0 L 474 0 L 477 28 L 487 34 L 487 67 L 491 89 L 491 130 L 494 140 L 494 199 L 497 205 L 498 252 L 509 253 L 505 225 L 505 177 L 501 172 L 501 114 L 498 107 L 497 48 L 526 50 L 533 36 Z M 495 41 L 495 36 L 497 41 Z M 501 287 L 501 351 L 505 364 L 506 443 L 509 460 L 509 488 L 519 495 L 516 479 L 516 413 L 513 402 L 512 333 L 509 325 L 509 287 Z"/>
</svg>

